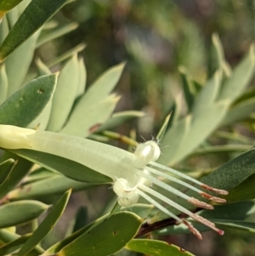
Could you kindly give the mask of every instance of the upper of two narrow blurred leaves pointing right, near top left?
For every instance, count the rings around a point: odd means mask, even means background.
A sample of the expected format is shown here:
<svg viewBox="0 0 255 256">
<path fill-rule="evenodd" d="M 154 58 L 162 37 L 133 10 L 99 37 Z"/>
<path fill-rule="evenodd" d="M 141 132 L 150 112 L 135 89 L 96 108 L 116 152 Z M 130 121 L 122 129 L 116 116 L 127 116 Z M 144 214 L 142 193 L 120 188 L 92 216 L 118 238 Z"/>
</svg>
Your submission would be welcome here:
<svg viewBox="0 0 255 256">
<path fill-rule="evenodd" d="M 43 34 L 42 37 L 38 38 L 37 48 L 40 47 L 43 43 L 48 43 L 53 41 L 55 38 L 61 37 L 71 31 L 76 30 L 77 26 L 78 24 L 76 22 L 69 23 L 65 26 L 57 26 L 53 31 Z"/>
</svg>

